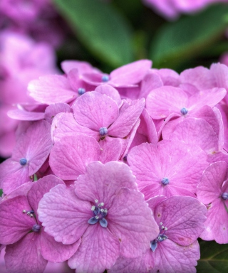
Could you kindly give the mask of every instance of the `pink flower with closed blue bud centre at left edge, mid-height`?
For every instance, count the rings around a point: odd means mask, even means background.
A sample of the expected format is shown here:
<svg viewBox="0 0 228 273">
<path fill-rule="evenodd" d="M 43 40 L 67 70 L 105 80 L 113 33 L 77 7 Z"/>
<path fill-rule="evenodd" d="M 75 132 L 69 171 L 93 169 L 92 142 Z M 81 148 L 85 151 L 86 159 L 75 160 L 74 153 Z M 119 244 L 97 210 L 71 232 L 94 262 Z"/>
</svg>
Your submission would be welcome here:
<svg viewBox="0 0 228 273">
<path fill-rule="evenodd" d="M 30 176 L 46 161 L 53 145 L 50 129 L 51 125 L 43 120 L 21 134 L 11 158 L 0 165 L 0 183 L 5 194 L 31 181 Z"/>
</svg>

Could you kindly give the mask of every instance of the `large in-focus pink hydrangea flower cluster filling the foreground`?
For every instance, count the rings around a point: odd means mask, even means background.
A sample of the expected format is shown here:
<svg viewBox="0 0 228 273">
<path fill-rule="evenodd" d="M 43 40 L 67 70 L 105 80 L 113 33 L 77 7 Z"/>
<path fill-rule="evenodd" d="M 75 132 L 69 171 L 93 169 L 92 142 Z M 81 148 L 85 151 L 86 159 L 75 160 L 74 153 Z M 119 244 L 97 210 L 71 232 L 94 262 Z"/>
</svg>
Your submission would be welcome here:
<svg viewBox="0 0 228 273">
<path fill-rule="evenodd" d="M 9 272 L 196 272 L 198 237 L 228 243 L 228 68 L 151 65 L 69 60 L 29 82 L 0 165 Z"/>
</svg>

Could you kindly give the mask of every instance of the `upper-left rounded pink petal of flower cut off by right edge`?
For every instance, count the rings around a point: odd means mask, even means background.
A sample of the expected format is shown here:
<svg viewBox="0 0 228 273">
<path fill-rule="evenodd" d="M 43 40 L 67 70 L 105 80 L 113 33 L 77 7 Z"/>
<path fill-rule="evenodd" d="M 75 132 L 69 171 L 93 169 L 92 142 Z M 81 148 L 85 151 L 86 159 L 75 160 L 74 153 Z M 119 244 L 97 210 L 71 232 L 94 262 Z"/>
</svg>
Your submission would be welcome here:
<svg viewBox="0 0 228 273">
<path fill-rule="evenodd" d="M 222 195 L 222 183 L 227 179 L 227 163 L 219 161 L 211 164 L 202 174 L 197 186 L 197 198 L 209 204 Z"/>
</svg>

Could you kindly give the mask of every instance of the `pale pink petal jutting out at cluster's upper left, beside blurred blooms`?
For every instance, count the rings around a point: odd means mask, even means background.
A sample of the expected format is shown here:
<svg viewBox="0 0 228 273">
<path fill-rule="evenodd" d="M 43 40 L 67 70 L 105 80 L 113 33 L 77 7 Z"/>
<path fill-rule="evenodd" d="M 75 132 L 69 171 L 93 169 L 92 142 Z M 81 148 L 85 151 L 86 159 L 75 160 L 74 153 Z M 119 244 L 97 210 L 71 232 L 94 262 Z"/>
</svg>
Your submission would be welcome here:
<svg viewBox="0 0 228 273">
<path fill-rule="evenodd" d="M 31 80 L 28 91 L 34 100 L 47 105 L 71 102 L 77 96 L 63 75 L 48 75 L 40 77 L 39 80 Z"/>
</svg>

